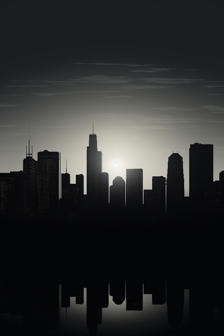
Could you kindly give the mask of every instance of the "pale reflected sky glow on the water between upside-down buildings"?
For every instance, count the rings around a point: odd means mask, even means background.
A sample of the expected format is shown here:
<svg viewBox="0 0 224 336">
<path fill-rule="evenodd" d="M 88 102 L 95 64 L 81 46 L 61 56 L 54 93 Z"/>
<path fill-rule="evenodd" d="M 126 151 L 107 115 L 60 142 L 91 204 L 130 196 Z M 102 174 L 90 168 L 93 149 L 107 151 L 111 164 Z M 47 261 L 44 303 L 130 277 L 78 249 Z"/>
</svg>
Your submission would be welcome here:
<svg viewBox="0 0 224 336">
<path fill-rule="evenodd" d="M 184 290 L 183 323 L 180 329 L 189 325 L 189 290 Z M 152 304 L 152 295 L 143 294 L 142 311 L 126 310 L 126 299 L 120 305 L 109 296 L 108 308 L 102 309 L 102 323 L 97 326 L 97 335 L 146 335 L 173 330 L 168 323 L 167 305 Z M 55 332 L 55 331 L 54 331 Z M 61 328 L 59 334 L 89 335 L 86 328 L 86 288 L 84 304 L 77 305 L 75 297 L 70 299 L 70 308 L 61 308 Z"/>
</svg>

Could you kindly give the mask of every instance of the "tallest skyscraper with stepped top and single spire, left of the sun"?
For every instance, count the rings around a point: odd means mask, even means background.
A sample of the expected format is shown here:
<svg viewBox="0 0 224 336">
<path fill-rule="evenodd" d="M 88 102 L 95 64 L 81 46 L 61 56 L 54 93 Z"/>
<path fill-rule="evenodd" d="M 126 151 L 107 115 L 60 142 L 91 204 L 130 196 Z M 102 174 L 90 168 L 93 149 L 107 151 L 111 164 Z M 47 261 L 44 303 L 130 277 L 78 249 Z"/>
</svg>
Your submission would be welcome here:
<svg viewBox="0 0 224 336">
<path fill-rule="evenodd" d="M 86 153 L 86 191 L 90 207 L 98 203 L 99 173 L 102 173 L 102 152 L 97 151 L 96 134 L 92 133 Z"/>
</svg>

